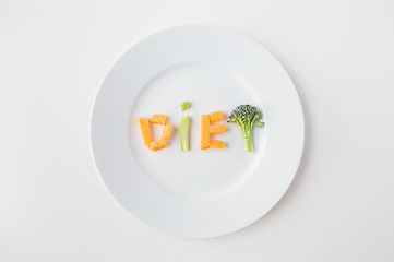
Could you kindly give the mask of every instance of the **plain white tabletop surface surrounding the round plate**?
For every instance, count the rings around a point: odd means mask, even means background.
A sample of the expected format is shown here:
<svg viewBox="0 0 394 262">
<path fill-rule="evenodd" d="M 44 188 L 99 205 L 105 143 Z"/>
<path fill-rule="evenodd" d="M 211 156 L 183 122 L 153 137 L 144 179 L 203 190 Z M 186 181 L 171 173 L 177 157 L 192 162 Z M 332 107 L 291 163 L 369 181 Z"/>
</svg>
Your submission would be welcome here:
<svg viewBox="0 0 394 262">
<path fill-rule="evenodd" d="M 151 229 L 106 191 L 88 142 L 112 62 L 181 24 L 244 33 L 288 70 L 306 118 L 294 183 L 225 237 Z M 0 261 L 394 261 L 394 1 L 0 2 Z"/>
</svg>

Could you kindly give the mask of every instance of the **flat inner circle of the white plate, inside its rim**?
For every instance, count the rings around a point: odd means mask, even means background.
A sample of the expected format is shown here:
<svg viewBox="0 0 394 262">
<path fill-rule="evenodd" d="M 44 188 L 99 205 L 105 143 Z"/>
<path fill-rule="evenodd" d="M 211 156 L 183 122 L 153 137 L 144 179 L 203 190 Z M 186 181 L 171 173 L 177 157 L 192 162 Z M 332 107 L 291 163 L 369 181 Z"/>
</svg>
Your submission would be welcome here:
<svg viewBox="0 0 394 262">
<path fill-rule="evenodd" d="M 179 104 L 191 106 L 181 111 Z M 264 147 L 264 130 L 254 129 L 254 152 L 244 152 L 237 124 L 227 123 L 228 115 L 240 104 L 260 109 L 253 90 L 236 72 L 208 63 L 184 63 L 169 68 L 144 85 L 130 114 L 130 147 L 143 176 L 168 193 L 198 200 L 219 198 L 236 190 L 253 174 Z M 227 131 L 212 134 L 226 142 L 226 148 L 200 150 L 200 118 L 203 114 L 223 110 Z M 143 145 L 136 117 L 166 114 L 175 127 L 168 147 L 152 152 Z M 190 117 L 190 152 L 180 151 L 178 122 Z M 155 139 L 163 128 L 155 128 Z M 259 175 L 259 174 L 256 174 Z"/>
</svg>

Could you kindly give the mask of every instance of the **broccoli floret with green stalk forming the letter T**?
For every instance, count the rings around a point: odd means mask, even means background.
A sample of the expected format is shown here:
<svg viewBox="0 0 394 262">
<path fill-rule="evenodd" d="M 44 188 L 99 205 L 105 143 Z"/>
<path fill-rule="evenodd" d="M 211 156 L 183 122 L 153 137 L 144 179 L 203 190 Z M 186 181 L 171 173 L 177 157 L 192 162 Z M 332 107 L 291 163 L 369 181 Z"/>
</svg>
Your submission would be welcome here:
<svg viewBox="0 0 394 262">
<path fill-rule="evenodd" d="M 262 118 L 262 114 L 258 110 L 258 108 L 250 105 L 238 106 L 228 117 L 227 122 L 235 122 L 241 129 L 244 150 L 248 152 L 253 151 L 253 126 L 260 129 L 264 127 Z"/>
</svg>

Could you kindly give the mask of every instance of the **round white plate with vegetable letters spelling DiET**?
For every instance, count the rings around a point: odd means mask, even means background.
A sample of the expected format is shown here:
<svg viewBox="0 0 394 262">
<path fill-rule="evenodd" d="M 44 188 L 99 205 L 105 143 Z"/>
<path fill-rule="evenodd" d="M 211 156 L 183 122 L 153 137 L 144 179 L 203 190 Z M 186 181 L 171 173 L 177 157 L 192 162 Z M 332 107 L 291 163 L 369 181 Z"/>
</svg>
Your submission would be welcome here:
<svg viewBox="0 0 394 262">
<path fill-rule="evenodd" d="M 191 108 L 182 112 L 183 100 Z M 213 135 L 225 150 L 201 151 L 200 116 L 227 117 L 240 104 L 264 114 L 254 152 L 244 152 L 235 123 Z M 157 152 L 143 145 L 135 121 L 152 114 L 168 115 L 176 127 Z M 186 115 L 191 151 L 183 153 L 177 126 Z M 160 127 L 154 128 L 157 138 Z M 141 40 L 110 69 L 93 106 L 91 143 L 103 181 L 134 217 L 171 235 L 206 238 L 246 227 L 278 202 L 300 162 L 303 117 L 290 78 L 261 45 L 226 28 L 181 26 Z"/>
</svg>

